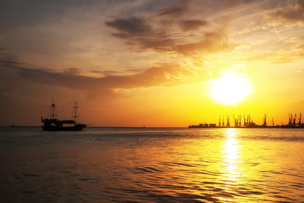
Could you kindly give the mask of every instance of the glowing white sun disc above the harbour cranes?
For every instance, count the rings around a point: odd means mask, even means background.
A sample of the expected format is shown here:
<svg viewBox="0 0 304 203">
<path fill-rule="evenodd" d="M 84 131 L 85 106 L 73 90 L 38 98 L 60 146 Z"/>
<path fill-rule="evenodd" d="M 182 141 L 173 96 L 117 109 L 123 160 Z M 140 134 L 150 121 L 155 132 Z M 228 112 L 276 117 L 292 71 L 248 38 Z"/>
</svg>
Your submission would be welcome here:
<svg viewBox="0 0 304 203">
<path fill-rule="evenodd" d="M 248 78 L 244 75 L 227 74 L 211 80 L 209 94 L 216 102 L 227 106 L 234 106 L 251 94 Z"/>
</svg>

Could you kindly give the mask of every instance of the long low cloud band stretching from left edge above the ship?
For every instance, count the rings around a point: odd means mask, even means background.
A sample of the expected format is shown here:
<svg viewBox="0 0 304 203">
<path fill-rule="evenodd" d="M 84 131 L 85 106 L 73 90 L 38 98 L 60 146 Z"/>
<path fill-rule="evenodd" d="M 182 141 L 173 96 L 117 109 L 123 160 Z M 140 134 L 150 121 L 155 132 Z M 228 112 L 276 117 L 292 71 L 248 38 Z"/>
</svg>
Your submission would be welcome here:
<svg viewBox="0 0 304 203">
<path fill-rule="evenodd" d="M 16 58 L 1 59 L 0 65 L 5 70 L 9 70 L 10 73 L 13 71 L 15 75 L 17 74 L 18 79 L 14 83 L 15 87 L 22 88 L 25 82 L 34 86 L 85 91 L 95 96 L 113 95 L 115 89 L 179 85 L 191 82 L 197 74 L 196 70 L 190 67 L 183 67 L 177 63 L 159 63 L 146 69 L 128 69 L 127 72 L 129 73 L 124 75 L 108 71 L 104 77 L 99 78 L 81 75 L 82 70 L 78 68 L 68 68 L 60 73 L 45 68 L 33 69 L 31 64 L 20 63 Z M 130 74 L 130 72 L 133 74 Z M 2 81 L 6 80 L 5 77 L 6 75 L 4 74 L 0 79 Z M 6 81 L 5 84 L 11 84 L 11 79 Z M 4 94 L 13 90 L 15 90 L 14 87 L 8 88 L 3 83 L 0 92 Z"/>
</svg>

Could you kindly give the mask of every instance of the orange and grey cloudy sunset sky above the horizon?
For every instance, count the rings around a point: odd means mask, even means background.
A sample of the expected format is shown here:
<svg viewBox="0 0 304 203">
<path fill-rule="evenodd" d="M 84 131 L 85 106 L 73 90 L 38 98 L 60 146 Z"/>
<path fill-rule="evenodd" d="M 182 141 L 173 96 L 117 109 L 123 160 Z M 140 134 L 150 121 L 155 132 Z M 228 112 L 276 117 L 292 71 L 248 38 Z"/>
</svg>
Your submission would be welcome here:
<svg viewBox="0 0 304 203">
<path fill-rule="evenodd" d="M 303 87 L 304 0 L 0 0 L 0 126 L 281 125 Z"/>
</svg>

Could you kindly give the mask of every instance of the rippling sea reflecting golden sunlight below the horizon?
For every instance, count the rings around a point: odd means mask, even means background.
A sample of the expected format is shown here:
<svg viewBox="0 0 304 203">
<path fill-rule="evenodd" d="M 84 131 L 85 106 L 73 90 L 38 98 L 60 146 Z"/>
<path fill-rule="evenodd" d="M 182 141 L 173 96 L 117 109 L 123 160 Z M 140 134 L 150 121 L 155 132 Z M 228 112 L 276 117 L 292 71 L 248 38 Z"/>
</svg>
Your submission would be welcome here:
<svg viewBox="0 0 304 203">
<path fill-rule="evenodd" d="M 0 127 L 0 203 L 303 203 L 304 129 Z"/>
</svg>

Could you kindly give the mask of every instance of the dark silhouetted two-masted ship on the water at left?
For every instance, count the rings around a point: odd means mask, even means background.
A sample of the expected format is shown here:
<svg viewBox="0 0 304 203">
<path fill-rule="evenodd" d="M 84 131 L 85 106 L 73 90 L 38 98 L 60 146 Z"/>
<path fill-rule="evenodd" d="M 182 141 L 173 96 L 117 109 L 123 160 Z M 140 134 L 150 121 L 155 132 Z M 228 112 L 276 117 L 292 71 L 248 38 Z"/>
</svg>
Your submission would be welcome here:
<svg viewBox="0 0 304 203">
<path fill-rule="evenodd" d="M 80 131 L 83 130 L 87 125 L 85 124 L 81 124 L 81 123 L 77 123 L 76 122 L 76 118 L 79 117 L 77 115 L 77 102 L 75 102 L 75 106 L 74 108 L 74 115 L 73 118 L 74 120 L 58 120 L 57 118 L 55 118 L 55 114 L 54 114 L 54 110 L 55 110 L 55 104 L 54 104 L 54 100 L 51 104 L 51 118 L 45 118 L 43 119 L 41 116 L 41 122 L 43 123 L 42 125 L 42 130 L 49 130 L 49 131 Z"/>
</svg>

